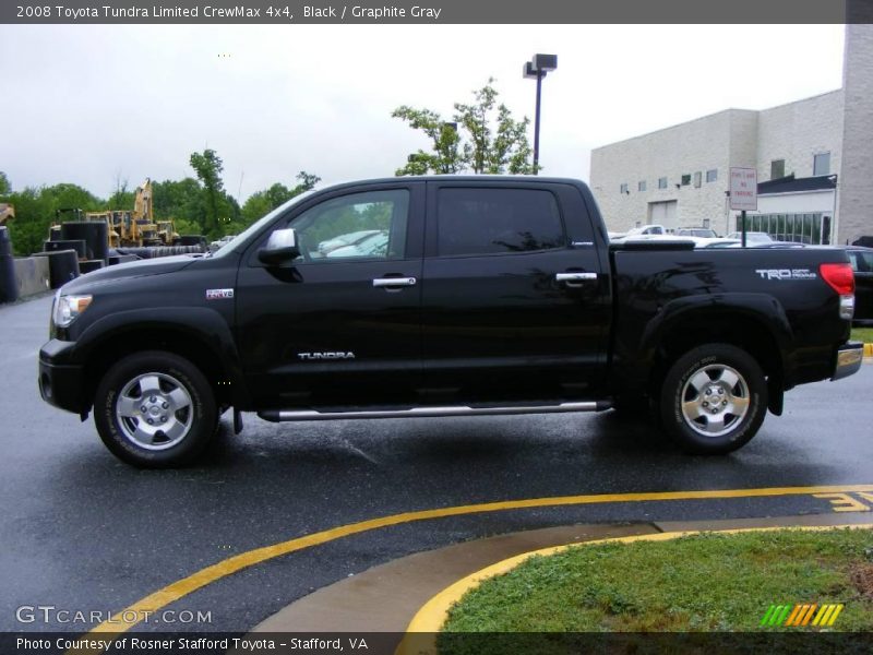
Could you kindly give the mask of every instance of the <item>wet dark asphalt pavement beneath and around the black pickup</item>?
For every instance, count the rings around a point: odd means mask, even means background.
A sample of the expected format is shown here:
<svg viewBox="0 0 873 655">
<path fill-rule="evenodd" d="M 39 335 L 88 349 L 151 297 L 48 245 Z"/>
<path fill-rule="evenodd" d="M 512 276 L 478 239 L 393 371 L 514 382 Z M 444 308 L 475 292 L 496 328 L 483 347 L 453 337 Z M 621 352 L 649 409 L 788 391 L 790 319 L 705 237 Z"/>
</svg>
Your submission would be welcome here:
<svg viewBox="0 0 873 655">
<path fill-rule="evenodd" d="M 514 531 L 873 509 L 873 496 L 857 490 L 873 484 L 871 365 L 790 392 L 785 416 L 768 416 L 752 443 L 726 457 L 683 455 L 612 413 L 280 426 L 247 415 L 243 433 L 225 429 L 202 465 L 137 471 L 109 454 L 91 420 L 39 398 L 36 357 L 50 303 L 0 308 L 3 631 L 85 632 L 94 626 L 57 616 L 22 622 L 15 610 L 115 612 L 236 555 L 408 512 L 510 503 L 339 531 L 263 558 L 172 600 L 168 608 L 210 620 L 171 629 L 244 631 L 373 565 Z M 684 493 L 784 487 L 834 489 Z M 677 493 L 627 496 L 639 492 Z M 600 495 L 612 496 L 591 498 Z M 548 500 L 558 497 L 583 500 Z M 545 500 L 515 502 L 526 499 Z"/>
</svg>

